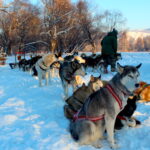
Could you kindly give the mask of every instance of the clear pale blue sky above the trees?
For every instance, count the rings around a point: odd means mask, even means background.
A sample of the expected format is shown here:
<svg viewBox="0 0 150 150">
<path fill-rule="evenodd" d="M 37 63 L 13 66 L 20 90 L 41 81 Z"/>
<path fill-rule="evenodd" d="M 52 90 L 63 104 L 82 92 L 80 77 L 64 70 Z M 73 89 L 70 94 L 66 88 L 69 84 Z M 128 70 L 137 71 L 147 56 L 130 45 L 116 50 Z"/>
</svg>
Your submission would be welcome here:
<svg viewBox="0 0 150 150">
<path fill-rule="evenodd" d="M 72 0 L 76 2 L 77 0 Z M 92 11 L 118 10 L 126 18 L 128 29 L 149 29 L 150 28 L 150 0 L 86 0 Z"/>
</svg>

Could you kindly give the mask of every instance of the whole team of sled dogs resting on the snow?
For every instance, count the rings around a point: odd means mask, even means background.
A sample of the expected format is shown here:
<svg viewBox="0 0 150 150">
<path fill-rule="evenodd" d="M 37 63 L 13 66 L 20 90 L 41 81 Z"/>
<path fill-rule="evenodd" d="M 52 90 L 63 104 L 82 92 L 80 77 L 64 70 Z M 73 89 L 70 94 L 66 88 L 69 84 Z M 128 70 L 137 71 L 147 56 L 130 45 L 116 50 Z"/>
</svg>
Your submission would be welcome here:
<svg viewBox="0 0 150 150">
<path fill-rule="evenodd" d="M 18 67 L 24 71 L 32 70 L 33 75 L 38 76 L 39 86 L 42 86 L 43 79 L 45 85 L 48 85 L 52 73 L 55 69 L 58 70 L 65 95 L 64 115 L 69 120 L 69 132 L 72 138 L 80 145 L 100 148 L 102 147 L 100 140 L 106 132 L 110 147 L 117 148 L 114 129 L 141 124 L 132 116 L 136 110 L 136 103 L 138 100 L 150 101 L 148 94 L 150 85 L 139 82 L 141 64 L 122 66 L 117 63 L 117 73 L 110 81 L 101 80 L 101 76 L 91 75 L 87 85 L 82 80 L 87 68 L 99 71 L 103 69 L 101 55 L 86 56 L 75 52 L 62 57 L 49 53 L 30 60 L 22 59 Z M 70 97 L 69 86 L 73 89 Z"/>
</svg>

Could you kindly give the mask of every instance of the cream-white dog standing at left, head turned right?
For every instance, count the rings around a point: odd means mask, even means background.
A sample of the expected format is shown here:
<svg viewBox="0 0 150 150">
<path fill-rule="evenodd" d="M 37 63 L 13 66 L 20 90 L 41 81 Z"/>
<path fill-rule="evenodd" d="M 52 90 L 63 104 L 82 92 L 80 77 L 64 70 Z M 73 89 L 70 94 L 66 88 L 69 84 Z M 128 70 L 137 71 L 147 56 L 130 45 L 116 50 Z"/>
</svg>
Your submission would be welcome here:
<svg viewBox="0 0 150 150">
<path fill-rule="evenodd" d="M 42 79 L 45 79 L 45 84 L 48 85 L 50 78 L 50 65 L 58 60 L 59 58 L 56 54 L 50 53 L 44 55 L 36 62 L 35 69 L 38 74 L 39 86 L 42 86 Z"/>
</svg>

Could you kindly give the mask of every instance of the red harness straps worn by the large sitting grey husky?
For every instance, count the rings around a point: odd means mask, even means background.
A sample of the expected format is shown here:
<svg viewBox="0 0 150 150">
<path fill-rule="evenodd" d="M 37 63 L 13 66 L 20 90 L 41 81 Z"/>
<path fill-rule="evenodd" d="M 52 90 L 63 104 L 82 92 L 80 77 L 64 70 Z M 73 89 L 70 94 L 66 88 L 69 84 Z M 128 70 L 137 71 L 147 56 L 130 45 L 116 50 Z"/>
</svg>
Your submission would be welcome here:
<svg viewBox="0 0 150 150">
<path fill-rule="evenodd" d="M 119 98 L 119 96 L 116 94 L 116 92 L 114 91 L 114 89 L 112 88 L 112 86 L 110 84 L 107 84 L 106 88 L 112 94 L 112 96 L 115 98 L 115 100 L 117 101 L 117 103 L 120 107 L 120 110 L 121 110 L 122 109 L 122 101 Z M 80 120 L 87 119 L 87 120 L 95 122 L 95 121 L 99 121 L 99 120 L 104 119 L 104 116 L 105 116 L 105 114 L 100 115 L 99 117 L 79 116 L 79 113 L 80 113 L 80 110 L 77 113 L 74 114 L 73 121 L 76 121 L 76 120 L 79 120 L 79 119 Z"/>
</svg>

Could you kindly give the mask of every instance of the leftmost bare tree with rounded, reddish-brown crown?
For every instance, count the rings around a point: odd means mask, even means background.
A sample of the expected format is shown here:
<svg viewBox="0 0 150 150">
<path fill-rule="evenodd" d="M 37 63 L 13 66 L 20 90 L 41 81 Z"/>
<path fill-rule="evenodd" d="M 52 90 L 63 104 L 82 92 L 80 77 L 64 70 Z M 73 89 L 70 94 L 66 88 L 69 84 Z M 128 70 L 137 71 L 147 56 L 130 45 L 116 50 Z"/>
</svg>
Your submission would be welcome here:
<svg viewBox="0 0 150 150">
<path fill-rule="evenodd" d="M 40 19 L 37 8 L 24 0 L 14 0 L 7 12 L 1 13 L 1 43 L 11 54 L 12 47 L 20 51 L 25 43 L 37 37 Z"/>
</svg>

